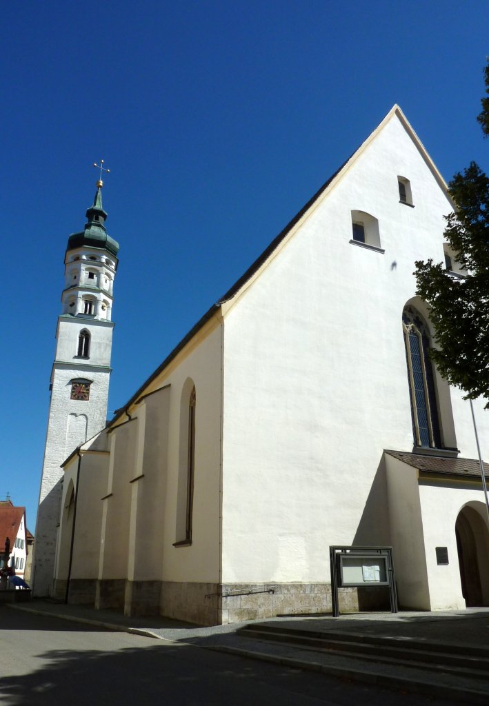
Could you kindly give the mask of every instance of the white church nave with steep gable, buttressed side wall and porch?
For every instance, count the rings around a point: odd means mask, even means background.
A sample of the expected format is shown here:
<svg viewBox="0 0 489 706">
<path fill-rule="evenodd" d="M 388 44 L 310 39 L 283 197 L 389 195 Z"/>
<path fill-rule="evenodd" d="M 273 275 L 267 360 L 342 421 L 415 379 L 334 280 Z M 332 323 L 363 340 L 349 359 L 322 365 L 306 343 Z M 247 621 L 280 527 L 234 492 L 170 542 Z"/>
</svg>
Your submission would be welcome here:
<svg viewBox="0 0 489 706">
<path fill-rule="evenodd" d="M 452 210 L 394 106 L 110 424 L 59 460 L 54 594 L 201 624 L 324 613 L 329 547 L 391 546 L 402 608 L 488 605 L 469 402 L 428 359 L 413 276 L 445 256 L 463 276 L 444 243 Z M 385 607 L 385 594 L 342 589 L 340 606 Z"/>
</svg>

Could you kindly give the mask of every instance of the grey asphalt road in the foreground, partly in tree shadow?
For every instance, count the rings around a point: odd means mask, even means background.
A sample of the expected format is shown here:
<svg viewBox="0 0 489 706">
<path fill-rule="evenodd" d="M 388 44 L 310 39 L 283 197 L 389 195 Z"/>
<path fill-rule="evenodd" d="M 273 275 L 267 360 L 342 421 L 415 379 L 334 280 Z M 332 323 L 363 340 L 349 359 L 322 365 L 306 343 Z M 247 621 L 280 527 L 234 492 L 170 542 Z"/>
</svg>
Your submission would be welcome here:
<svg viewBox="0 0 489 706">
<path fill-rule="evenodd" d="M 452 706 L 322 674 L 0 607 L 8 706 Z"/>
</svg>

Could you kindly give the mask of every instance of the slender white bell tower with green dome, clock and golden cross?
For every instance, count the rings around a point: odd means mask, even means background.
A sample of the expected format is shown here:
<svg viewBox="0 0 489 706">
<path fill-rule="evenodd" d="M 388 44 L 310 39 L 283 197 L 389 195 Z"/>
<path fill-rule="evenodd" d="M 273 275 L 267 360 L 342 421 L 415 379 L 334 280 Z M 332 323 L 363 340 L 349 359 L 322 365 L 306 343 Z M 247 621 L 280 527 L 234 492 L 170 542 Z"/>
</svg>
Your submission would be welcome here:
<svg viewBox="0 0 489 706">
<path fill-rule="evenodd" d="M 102 164 L 95 164 L 100 168 Z M 83 231 L 68 239 L 52 366 L 51 400 L 33 558 L 33 594 L 52 593 L 61 463 L 105 427 L 112 349 L 112 301 L 119 244 L 107 234 L 102 179 Z"/>
</svg>

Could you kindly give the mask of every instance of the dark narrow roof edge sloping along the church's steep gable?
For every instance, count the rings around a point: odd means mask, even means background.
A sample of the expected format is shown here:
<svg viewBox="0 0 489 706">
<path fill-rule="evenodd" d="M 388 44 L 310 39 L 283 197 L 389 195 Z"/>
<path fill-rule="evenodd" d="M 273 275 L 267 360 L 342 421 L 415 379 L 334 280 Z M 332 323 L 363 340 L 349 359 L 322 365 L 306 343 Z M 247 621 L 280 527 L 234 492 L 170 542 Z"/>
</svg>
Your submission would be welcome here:
<svg viewBox="0 0 489 706">
<path fill-rule="evenodd" d="M 334 172 L 334 174 L 331 177 L 329 177 L 329 179 L 327 181 L 324 182 L 324 184 L 316 191 L 316 193 L 314 193 L 314 196 L 312 196 L 312 198 L 310 198 L 310 200 L 307 201 L 307 203 L 300 209 L 300 211 L 293 217 L 293 219 L 290 220 L 290 222 L 288 222 L 288 224 L 285 226 L 285 228 L 283 230 L 281 230 L 281 232 L 273 239 L 273 241 L 271 241 L 269 246 L 266 247 L 266 249 L 261 253 L 261 255 L 254 261 L 254 263 L 252 263 L 252 265 L 249 266 L 249 268 L 239 278 L 239 280 L 237 280 L 237 282 L 235 282 L 235 284 L 232 285 L 232 287 L 230 287 L 230 289 L 228 289 L 228 291 L 225 292 L 225 294 L 223 294 L 223 296 L 220 297 L 220 299 L 218 299 L 218 301 L 216 301 L 216 303 L 213 304 L 211 306 L 211 308 L 208 309 L 208 311 L 206 311 L 206 313 L 204 313 L 204 316 L 202 316 L 199 319 L 199 321 L 197 321 L 197 323 L 194 325 L 194 327 L 191 330 L 189 330 L 189 333 L 187 333 L 187 335 L 184 336 L 184 338 L 182 338 L 182 340 L 179 342 L 179 344 L 165 358 L 163 363 L 160 364 L 160 366 L 158 366 L 158 368 L 143 383 L 143 385 L 141 385 L 141 387 L 138 390 L 136 390 L 136 393 L 134 393 L 134 395 L 130 398 L 130 400 L 128 402 L 126 402 L 126 405 L 124 405 L 124 407 L 121 407 L 120 409 L 117 409 L 117 412 L 115 413 L 114 418 L 108 422 L 107 426 L 112 426 L 112 424 L 114 424 L 117 421 L 117 419 L 122 417 L 122 415 L 126 412 L 126 409 L 131 407 L 131 405 L 133 405 L 134 402 L 136 402 L 136 400 L 138 400 L 139 397 L 141 397 L 141 395 L 143 394 L 143 391 L 148 387 L 148 385 L 150 385 L 153 382 L 153 380 L 155 378 L 157 378 L 158 375 L 166 368 L 166 366 L 168 364 L 170 364 L 170 362 L 187 345 L 187 343 L 190 340 L 192 340 L 194 335 L 196 335 L 196 333 L 198 333 L 199 330 L 201 330 L 201 328 L 204 326 L 204 324 L 207 321 L 209 321 L 214 316 L 214 314 L 220 310 L 221 306 L 223 306 L 223 304 L 225 304 L 226 302 L 230 301 L 230 299 L 235 297 L 240 292 L 240 290 L 244 289 L 247 286 L 248 282 L 250 282 L 250 280 L 252 280 L 254 275 L 256 275 L 259 272 L 261 266 L 264 265 L 266 263 L 266 261 L 269 260 L 269 258 L 271 258 L 273 256 L 273 253 L 275 253 L 278 250 L 278 248 L 281 246 L 283 241 L 285 241 L 285 239 L 287 239 L 289 234 L 290 235 L 293 234 L 295 226 L 298 225 L 303 218 L 307 217 L 308 212 L 312 209 L 312 207 L 314 207 L 314 205 L 316 203 L 319 202 L 319 199 L 323 195 L 326 195 L 326 193 L 328 193 L 331 189 L 334 188 L 334 186 L 336 186 L 338 181 L 343 177 L 344 174 L 346 174 L 348 169 L 350 169 L 350 166 L 358 159 L 358 157 L 360 157 L 360 155 L 363 153 L 363 151 L 368 147 L 368 145 L 370 145 L 372 140 L 375 139 L 375 137 L 377 136 L 379 131 L 381 131 L 382 128 L 384 128 L 384 126 L 394 116 L 397 116 L 397 118 L 401 121 L 401 124 L 406 129 L 406 132 L 411 137 L 411 140 L 413 140 L 413 143 L 416 145 L 418 152 L 420 152 L 421 157 L 423 158 L 423 160 L 427 164 L 428 168 L 432 172 L 433 177 L 435 177 L 440 188 L 444 191 L 444 193 L 447 194 L 448 198 L 450 198 L 449 194 L 448 194 L 447 184 L 444 181 L 440 172 L 438 171 L 437 167 L 435 166 L 435 163 L 432 161 L 430 155 L 428 155 L 428 152 L 425 149 L 423 143 L 421 143 L 421 140 L 416 135 L 416 132 L 411 127 L 411 124 L 409 123 L 408 119 L 401 111 L 401 108 L 399 107 L 399 105 L 394 104 L 394 106 L 389 110 L 389 113 L 387 113 L 387 115 L 384 117 L 382 122 L 377 126 L 377 128 L 375 128 L 375 130 L 370 134 L 370 136 L 368 136 L 368 138 L 365 140 L 365 142 L 362 145 L 360 145 L 360 147 L 357 150 L 355 150 L 355 152 L 353 152 L 353 154 L 350 155 L 350 157 L 348 157 L 348 160 L 346 160 L 346 162 L 343 162 L 341 167 L 339 167 L 339 169 L 337 169 L 336 172 Z"/>
</svg>

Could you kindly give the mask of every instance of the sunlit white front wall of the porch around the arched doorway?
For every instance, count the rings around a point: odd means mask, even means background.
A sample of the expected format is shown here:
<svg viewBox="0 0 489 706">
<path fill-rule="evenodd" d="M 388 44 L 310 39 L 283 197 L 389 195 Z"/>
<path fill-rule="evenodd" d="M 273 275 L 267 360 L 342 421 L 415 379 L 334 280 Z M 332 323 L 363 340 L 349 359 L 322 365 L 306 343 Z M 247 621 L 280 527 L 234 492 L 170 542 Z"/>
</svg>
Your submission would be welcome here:
<svg viewBox="0 0 489 706">
<path fill-rule="evenodd" d="M 419 496 L 430 582 L 430 607 L 432 610 L 465 608 L 461 592 L 455 523 L 464 505 L 473 502 L 485 503 L 483 491 L 473 484 L 420 481 Z M 487 525 L 486 517 L 483 517 L 483 521 Z M 447 547 L 448 566 L 437 565 L 437 546 Z"/>
</svg>

